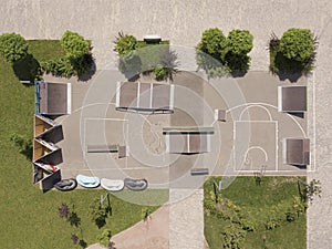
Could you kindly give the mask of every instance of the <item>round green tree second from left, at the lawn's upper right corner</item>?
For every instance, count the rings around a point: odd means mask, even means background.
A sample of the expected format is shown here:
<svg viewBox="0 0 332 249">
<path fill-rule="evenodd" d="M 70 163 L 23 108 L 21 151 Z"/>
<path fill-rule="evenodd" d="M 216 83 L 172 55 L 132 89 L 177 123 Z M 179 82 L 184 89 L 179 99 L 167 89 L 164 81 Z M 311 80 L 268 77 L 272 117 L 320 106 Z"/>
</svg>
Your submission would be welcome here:
<svg viewBox="0 0 332 249">
<path fill-rule="evenodd" d="M 60 40 L 65 55 L 70 59 L 82 58 L 90 53 L 90 42 L 75 32 L 65 31 Z"/>
</svg>

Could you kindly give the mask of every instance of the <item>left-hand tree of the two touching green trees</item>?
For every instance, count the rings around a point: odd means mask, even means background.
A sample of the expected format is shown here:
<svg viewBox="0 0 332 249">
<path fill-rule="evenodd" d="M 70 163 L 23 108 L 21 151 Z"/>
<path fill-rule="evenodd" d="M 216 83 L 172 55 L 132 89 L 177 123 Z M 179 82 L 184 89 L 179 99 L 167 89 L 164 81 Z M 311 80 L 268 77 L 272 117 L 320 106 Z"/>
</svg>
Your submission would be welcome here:
<svg viewBox="0 0 332 249">
<path fill-rule="evenodd" d="M 201 40 L 196 49 L 222 62 L 225 48 L 226 38 L 222 31 L 212 28 L 203 32 Z"/>
</svg>

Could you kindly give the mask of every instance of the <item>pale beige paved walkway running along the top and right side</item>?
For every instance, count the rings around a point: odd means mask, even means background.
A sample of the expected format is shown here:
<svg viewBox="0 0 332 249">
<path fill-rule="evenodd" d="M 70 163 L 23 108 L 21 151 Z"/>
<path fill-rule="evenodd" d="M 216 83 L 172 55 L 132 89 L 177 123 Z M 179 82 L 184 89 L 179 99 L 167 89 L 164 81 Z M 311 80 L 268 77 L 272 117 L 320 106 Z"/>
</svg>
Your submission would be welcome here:
<svg viewBox="0 0 332 249">
<path fill-rule="evenodd" d="M 154 8 L 155 7 L 155 8 Z M 113 41 L 120 30 L 137 38 L 160 34 L 173 44 L 194 46 L 201 31 L 219 27 L 227 34 L 235 28 L 248 29 L 255 37 L 251 69 L 268 70 L 267 42 L 271 31 L 281 35 L 291 27 L 309 28 L 319 35 L 318 68 L 312 91 L 315 105 L 309 133 L 317 142 L 312 177 L 321 179 L 323 197 L 308 216 L 308 247 L 330 248 L 332 243 L 332 118 L 331 116 L 331 59 L 332 2 L 330 0 L 261 1 L 227 0 L 7 0 L 0 4 L 2 32 L 18 32 L 27 39 L 59 39 L 65 30 L 77 31 L 93 41 L 97 69 L 115 59 Z M 180 242 L 180 241 L 178 241 Z"/>
</svg>

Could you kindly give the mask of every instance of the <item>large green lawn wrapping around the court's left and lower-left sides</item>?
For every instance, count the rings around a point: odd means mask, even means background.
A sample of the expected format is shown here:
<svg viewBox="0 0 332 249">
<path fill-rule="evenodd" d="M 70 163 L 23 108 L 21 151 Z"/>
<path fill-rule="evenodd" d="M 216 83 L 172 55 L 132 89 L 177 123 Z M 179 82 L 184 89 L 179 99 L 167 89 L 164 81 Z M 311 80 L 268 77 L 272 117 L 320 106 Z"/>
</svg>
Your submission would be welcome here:
<svg viewBox="0 0 332 249">
<path fill-rule="evenodd" d="M 30 52 L 38 61 L 61 55 L 59 41 L 29 41 Z M 97 229 L 87 217 L 89 205 L 105 194 L 102 189 L 48 191 L 32 185 L 32 165 L 10 141 L 12 133 L 32 139 L 34 87 L 19 82 L 13 68 L 0 59 L 0 248 L 80 248 L 71 234 L 77 234 L 87 245 L 96 242 L 104 228 L 115 235 L 142 219 L 143 206 L 111 197 L 113 214 Z M 151 190 L 154 196 L 155 191 Z M 162 198 L 166 201 L 167 193 Z M 61 219 L 58 208 L 66 203 L 81 218 L 81 228 Z M 162 203 L 162 201 L 160 201 Z M 157 207 L 151 207 L 155 210 Z M 81 232 L 82 231 L 82 232 Z"/>
</svg>

